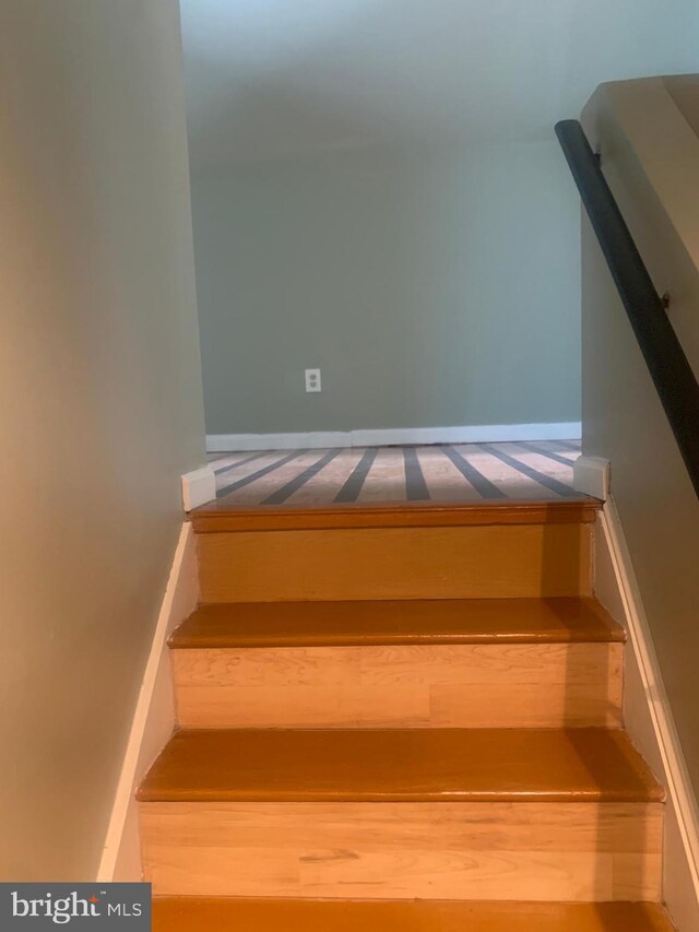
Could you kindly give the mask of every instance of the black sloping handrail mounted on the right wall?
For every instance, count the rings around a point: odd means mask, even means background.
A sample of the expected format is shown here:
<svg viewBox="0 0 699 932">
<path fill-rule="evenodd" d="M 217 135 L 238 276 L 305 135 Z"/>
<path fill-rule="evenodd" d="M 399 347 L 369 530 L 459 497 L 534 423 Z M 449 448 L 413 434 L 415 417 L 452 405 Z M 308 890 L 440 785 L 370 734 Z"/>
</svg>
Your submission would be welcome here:
<svg viewBox="0 0 699 932">
<path fill-rule="evenodd" d="M 578 120 L 556 135 L 699 496 L 699 384 Z"/>
</svg>

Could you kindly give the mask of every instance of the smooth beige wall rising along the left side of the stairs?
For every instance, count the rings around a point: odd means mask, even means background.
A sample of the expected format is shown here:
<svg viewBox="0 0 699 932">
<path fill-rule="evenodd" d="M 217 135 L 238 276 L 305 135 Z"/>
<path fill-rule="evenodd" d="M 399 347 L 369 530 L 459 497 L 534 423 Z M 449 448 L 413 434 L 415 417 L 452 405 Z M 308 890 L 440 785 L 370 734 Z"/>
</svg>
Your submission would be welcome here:
<svg viewBox="0 0 699 932">
<path fill-rule="evenodd" d="M 0 0 L 0 878 L 88 880 L 203 415 L 176 0 Z"/>
</svg>

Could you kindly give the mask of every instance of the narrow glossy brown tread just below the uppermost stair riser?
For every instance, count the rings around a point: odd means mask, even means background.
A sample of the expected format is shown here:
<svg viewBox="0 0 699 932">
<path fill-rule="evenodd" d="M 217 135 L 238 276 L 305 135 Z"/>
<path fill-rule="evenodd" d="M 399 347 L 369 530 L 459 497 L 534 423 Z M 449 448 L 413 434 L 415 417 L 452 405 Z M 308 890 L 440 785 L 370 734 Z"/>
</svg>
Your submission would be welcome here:
<svg viewBox="0 0 699 932">
<path fill-rule="evenodd" d="M 182 648 L 623 641 L 594 599 L 434 599 L 200 605 L 173 634 Z"/>
</svg>

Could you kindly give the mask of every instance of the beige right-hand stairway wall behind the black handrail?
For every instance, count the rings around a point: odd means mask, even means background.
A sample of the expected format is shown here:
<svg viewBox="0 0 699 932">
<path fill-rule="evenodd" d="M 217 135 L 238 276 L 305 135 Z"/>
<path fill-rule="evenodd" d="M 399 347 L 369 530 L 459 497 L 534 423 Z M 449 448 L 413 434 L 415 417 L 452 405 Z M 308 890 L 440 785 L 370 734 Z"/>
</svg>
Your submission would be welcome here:
<svg viewBox="0 0 699 932">
<path fill-rule="evenodd" d="M 602 85 L 583 115 L 671 318 L 699 371 L 699 139 L 676 105 L 699 79 Z M 692 86 L 694 85 L 694 86 Z M 583 451 L 612 493 L 695 789 L 699 790 L 699 502 L 592 229 L 583 222 Z"/>
</svg>

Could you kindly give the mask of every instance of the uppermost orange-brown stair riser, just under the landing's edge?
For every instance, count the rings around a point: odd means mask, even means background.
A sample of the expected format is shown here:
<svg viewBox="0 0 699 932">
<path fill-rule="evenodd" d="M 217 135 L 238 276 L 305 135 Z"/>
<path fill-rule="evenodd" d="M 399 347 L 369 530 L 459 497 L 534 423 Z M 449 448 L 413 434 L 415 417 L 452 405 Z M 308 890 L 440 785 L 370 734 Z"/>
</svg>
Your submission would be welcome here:
<svg viewBox="0 0 699 932">
<path fill-rule="evenodd" d="M 198 534 L 203 602 L 587 595 L 591 524 Z"/>
</svg>

